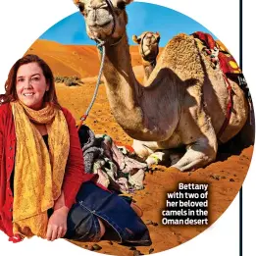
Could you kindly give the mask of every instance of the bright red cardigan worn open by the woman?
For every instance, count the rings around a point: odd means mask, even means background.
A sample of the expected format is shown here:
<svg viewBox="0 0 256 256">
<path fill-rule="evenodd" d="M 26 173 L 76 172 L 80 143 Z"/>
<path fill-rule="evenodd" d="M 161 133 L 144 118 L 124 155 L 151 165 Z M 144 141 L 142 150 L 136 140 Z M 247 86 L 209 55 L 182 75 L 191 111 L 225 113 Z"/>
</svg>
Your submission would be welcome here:
<svg viewBox="0 0 256 256">
<path fill-rule="evenodd" d="M 72 114 L 62 108 L 70 131 L 70 153 L 66 166 L 63 192 L 65 204 L 71 206 L 76 201 L 77 191 L 82 182 L 91 180 L 95 175 L 84 174 L 84 164 L 76 122 Z M 10 178 L 14 170 L 16 152 L 16 133 L 11 105 L 0 106 L 0 230 L 13 236 L 13 193 Z"/>
</svg>

